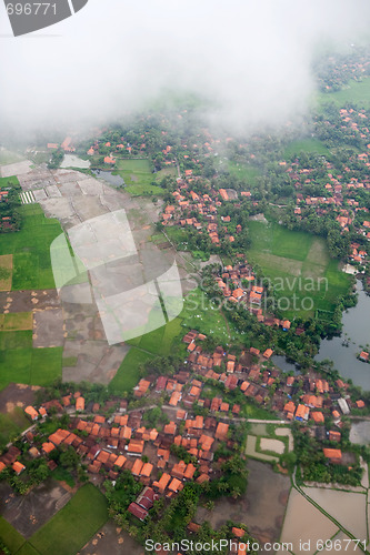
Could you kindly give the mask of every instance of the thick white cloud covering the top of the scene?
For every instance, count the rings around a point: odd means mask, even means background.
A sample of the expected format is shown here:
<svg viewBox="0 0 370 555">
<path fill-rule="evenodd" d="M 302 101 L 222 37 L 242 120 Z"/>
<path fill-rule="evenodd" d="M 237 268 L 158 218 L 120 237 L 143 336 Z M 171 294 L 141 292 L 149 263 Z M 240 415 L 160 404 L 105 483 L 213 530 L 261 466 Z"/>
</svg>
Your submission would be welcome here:
<svg viewBox="0 0 370 555">
<path fill-rule="evenodd" d="M 166 90 L 201 94 L 236 129 L 278 124 L 307 110 L 318 48 L 369 29 L 369 0 L 89 0 L 13 38 L 1 2 L 0 124 L 96 124 Z"/>
</svg>

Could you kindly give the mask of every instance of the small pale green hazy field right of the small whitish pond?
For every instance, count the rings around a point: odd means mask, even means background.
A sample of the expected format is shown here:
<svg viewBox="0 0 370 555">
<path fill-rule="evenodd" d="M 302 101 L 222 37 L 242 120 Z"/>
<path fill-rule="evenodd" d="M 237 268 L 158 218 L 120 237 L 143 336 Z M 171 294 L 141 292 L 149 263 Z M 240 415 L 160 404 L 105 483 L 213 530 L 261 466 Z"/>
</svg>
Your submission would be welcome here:
<svg viewBox="0 0 370 555">
<path fill-rule="evenodd" d="M 126 191 L 133 196 L 164 194 L 160 186 L 152 185 L 156 175 L 151 172 L 149 160 L 117 160 L 116 172 L 124 180 Z"/>
</svg>

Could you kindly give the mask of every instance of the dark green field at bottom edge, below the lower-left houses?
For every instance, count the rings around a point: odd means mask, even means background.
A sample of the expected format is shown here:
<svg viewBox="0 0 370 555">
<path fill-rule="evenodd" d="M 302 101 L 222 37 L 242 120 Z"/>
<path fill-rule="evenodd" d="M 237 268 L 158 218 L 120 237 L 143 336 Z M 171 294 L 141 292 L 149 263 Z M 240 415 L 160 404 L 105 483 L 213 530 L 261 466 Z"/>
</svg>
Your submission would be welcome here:
<svg viewBox="0 0 370 555">
<path fill-rule="evenodd" d="M 92 484 L 74 497 L 30 538 L 41 555 L 76 555 L 108 519 L 107 500 Z"/>
</svg>

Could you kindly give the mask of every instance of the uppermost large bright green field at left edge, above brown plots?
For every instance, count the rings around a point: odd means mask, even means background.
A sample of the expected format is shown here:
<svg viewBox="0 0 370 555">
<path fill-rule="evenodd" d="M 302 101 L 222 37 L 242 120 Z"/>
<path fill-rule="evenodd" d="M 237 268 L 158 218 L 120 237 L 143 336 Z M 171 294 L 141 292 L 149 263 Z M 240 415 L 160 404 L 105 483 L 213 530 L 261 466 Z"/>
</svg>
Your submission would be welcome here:
<svg viewBox="0 0 370 555">
<path fill-rule="evenodd" d="M 12 290 L 52 289 L 50 244 L 62 233 L 58 220 L 44 216 L 39 204 L 20 208 L 21 231 L 0 235 L 0 255 L 13 254 Z"/>
</svg>

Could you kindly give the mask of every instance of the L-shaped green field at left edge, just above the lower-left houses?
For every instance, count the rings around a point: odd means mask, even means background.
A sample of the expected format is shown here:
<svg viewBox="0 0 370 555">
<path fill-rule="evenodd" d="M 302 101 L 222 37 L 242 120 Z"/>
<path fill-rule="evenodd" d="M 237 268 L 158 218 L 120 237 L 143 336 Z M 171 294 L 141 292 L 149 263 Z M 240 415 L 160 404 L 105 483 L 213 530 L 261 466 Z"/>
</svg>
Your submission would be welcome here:
<svg viewBox="0 0 370 555">
<path fill-rule="evenodd" d="M 0 389 L 48 385 L 61 376 L 62 347 L 32 349 L 32 332 L 0 332 Z"/>
</svg>

